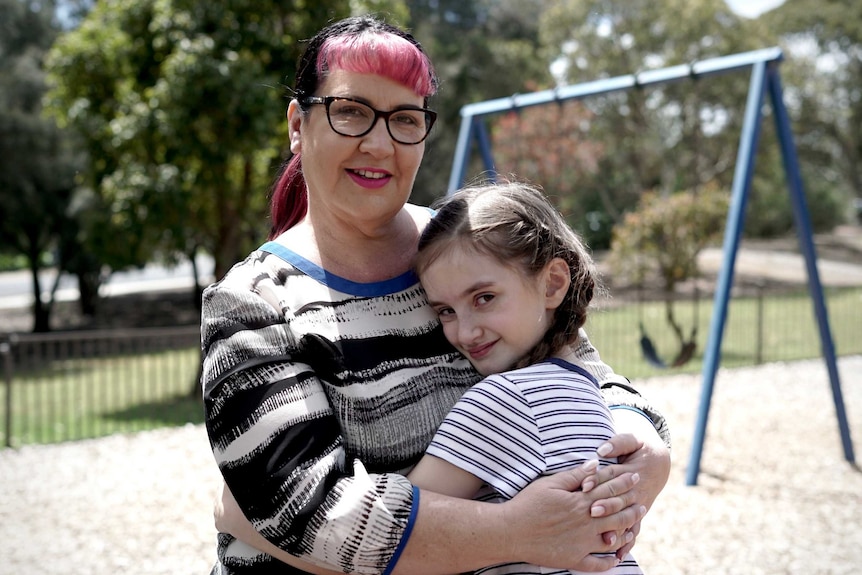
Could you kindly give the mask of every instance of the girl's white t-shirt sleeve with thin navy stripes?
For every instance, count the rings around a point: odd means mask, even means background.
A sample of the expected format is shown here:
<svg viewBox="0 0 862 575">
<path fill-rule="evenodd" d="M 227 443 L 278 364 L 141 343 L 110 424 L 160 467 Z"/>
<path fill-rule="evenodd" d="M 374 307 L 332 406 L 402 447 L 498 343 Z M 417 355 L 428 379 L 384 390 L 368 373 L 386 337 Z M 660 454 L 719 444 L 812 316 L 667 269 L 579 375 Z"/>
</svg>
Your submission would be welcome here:
<svg viewBox="0 0 862 575">
<path fill-rule="evenodd" d="M 528 401 L 499 376 L 470 388 L 426 453 L 472 473 L 508 498 L 542 475 L 544 454 Z"/>
</svg>

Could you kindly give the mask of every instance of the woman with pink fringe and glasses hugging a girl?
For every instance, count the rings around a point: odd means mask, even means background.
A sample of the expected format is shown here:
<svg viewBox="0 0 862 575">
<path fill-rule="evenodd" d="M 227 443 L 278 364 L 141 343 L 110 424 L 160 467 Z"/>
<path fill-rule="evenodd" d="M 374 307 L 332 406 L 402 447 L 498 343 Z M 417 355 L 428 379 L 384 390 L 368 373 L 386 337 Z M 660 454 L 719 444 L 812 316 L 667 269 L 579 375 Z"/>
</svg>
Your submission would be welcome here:
<svg viewBox="0 0 862 575">
<path fill-rule="evenodd" d="M 400 474 L 479 379 L 410 271 L 430 213 L 407 200 L 435 90 L 419 44 L 370 17 L 328 26 L 300 61 L 287 113 L 294 157 L 273 194 L 272 241 L 204 294 L 202 385 L 213 452 L 240 509 L 308 563 L 285 570 L 221 533 L 214 572 L 577 567 L 589 553 L 630 547 L 619 535 L 636 534 L 667 480 L 667 449 L 633 410 L 617 417 L 633 435 L 607 454 L 629 463 L 589 494 L 574 492 L 578 472 L 503 504 L 421 491 Z M 578 354 L 597 379 L 613 375 L 586 339 Z M 611 403 L 648 409 L 614 390 Z"/>
</svg>

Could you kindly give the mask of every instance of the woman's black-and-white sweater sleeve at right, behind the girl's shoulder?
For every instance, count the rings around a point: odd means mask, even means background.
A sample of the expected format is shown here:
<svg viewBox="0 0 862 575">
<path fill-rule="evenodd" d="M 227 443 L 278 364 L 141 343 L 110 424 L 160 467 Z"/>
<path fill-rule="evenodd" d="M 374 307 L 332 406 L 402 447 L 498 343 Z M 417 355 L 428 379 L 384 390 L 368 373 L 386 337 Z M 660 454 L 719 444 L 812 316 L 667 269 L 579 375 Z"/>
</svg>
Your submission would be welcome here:
<svg viewBox="0 0 862 575">
<path fill-rule="evenodd" d="M 599 381 L 605 402 L 611 407 L 626 407 L 642 412 L 653 424 L 664 444 L 670 449 L 670 429 L 664 415 L 629 383 L 625 377 L 602 361 L 598 350 L 590 342 L 587 332 L 581 329 L 575 356 L 596 380 Z"/>
</svg>

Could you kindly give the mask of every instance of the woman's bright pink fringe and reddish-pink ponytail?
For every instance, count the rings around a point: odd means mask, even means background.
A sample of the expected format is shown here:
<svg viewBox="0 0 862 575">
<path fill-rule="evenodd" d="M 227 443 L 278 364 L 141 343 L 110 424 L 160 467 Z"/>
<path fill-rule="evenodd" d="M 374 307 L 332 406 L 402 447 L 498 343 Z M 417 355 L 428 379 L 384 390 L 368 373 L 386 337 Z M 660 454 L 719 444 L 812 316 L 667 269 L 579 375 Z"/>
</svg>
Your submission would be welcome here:
<svg viewBox="0 0 862 575">
<path fill-rule="evenodd" d="M 319 44 L 312 72 L 312 89 L 316 89 L 331 70 L 345 70 L 389 78 L 412 89 L 427 102 L 437 90 L 434 69 L 418 43 L 412 40 L 412 37 L 408 39 L 400 34 L 367 30 L 358 34 L 329 36 Z M 309 49 L 312 49 L 312 46 L 309 46 Z M 298 74 L 303 74 L 303 70 L 300 69 Z M 305 78 L 304 83 L 308 84 L 308 80 L 309 78 Z M 299 78 L 297 84 L 300 84 Z M 297 92 L 298 98 L 311 95 L 306 93 L 306 90 Z M 300 155 L 295 154 L 285 164 L 273 189 L 270 200 L 270 239 L 292 228 L 305 217 L 308 210 L 307 194 Z"/>
</svg>

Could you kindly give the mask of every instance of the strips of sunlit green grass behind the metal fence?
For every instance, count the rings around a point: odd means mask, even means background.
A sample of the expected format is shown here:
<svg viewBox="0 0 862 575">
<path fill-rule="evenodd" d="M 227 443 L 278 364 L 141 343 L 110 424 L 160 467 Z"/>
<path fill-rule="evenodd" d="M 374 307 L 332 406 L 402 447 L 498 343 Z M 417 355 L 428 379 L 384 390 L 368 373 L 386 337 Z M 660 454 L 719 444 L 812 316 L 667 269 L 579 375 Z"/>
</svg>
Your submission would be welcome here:
<svg viewBox="0 0 862 575">
<path fill-rule="evenodd" d="M 838 355 L 862 354 L 862 288 L 826 292 L 832 338 Z M 758 329 L 762 303 L 763 328 Z M 680 324 L 690 329 L 694 303 L 675 304 Z M 698 348 L 676 369 L 656 369 L 641 354 L 638 323 L 643 320 L 660 354 L 678 351 L 665 321 L 662 302 L 623 305 L 594 312 L 587 324 L 590 339 L 617 373 L 630 379 L 699 373 L 709 334 L 712 299 L 698 309 Z M 790 361 L 822 356 L 814 311 L 807 292 L 734 298 L 728 308 L 722 339 L 721 367 L 758 361 Z M 170 351 L 123 354 L 92 359 L 45 362 L 36 371 L 16 373 L 11 396 L 11 444 L 56 443 L 203 422 L 196 389 L 199 350 L 187 346 Z M 0 384 L 0 446 L 7 444 L 7 385 Z"/>
</svg>

